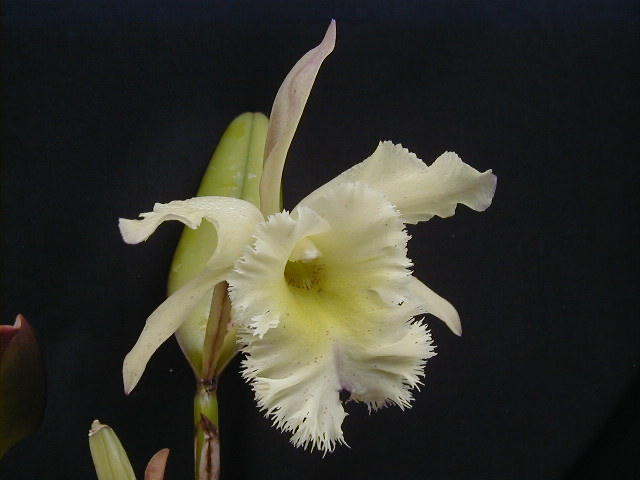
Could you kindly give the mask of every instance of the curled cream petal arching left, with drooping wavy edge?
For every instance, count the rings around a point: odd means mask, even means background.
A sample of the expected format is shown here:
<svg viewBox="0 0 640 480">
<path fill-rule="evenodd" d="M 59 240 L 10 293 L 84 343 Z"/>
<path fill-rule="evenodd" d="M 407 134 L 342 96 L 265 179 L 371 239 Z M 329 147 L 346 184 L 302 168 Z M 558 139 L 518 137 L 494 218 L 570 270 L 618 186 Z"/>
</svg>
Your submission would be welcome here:
<svg viewBox="0 0 640 480">
<path fill-rule="evenodd" d="M 141 220 L 120 219 L 120 233 L 125 242 L 145 241 L 168 220 L 177 220 L 194 229 L 203 219 L 210 221 L 216 227 L 218 245 L 208 264 L 215 264 L 216 268 L 233 265 L 242 248 L 249 243 L 256 224 L 264 221 L 254 205 L 230 197 L 196 197 L 156 203 L 153 212 L 140 216 Z"/>
</svg>

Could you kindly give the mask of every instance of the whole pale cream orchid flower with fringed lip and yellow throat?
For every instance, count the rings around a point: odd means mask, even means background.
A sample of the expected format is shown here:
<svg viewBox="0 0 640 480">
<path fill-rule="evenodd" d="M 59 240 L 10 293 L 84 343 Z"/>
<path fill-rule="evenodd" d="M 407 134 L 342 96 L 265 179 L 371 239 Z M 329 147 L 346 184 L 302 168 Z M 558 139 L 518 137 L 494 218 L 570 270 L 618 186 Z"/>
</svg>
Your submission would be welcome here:
<svg viewBox="0 0 640 480">
<path fill-rule="evenodd" d="M 427 166 L 400 145 L 373 155 L 320 187 L 291 212 L 278 212 L 284 160 L 335 24 L 281 86 L 271 113 L 261 183 L 262 211 L 226 197 L 156 204 L 141 220 L 121 220 L 128 243 L 166 220 L 213 223 L 218 243 L 207 268 L 147 320 L 125 359 L 126 391 L 153 352 L 203 295 L 229 283 L 232 319 L 246 359 L 243 376 L 258 405 L 296 446 L 324 452 L 345 443 L 340 392 L 369 409 L 410 407 L 411 390 L 435 355 L 422 320 L 429 313 L 460 335 L 449 302 L 416 279 L 405 224 L 449 217 L 457 204 L 483 211 L 496 186 L 454 153 Z"/>
</svg>

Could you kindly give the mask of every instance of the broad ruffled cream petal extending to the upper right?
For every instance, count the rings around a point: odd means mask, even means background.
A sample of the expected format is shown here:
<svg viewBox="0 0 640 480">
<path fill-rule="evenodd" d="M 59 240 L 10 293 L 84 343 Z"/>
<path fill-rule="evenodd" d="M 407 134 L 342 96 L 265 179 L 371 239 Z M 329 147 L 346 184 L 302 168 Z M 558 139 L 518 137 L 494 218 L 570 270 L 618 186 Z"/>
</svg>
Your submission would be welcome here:
<svg viewBox="0 0 640 480">
<path fill-rule="evenodd" d="M 491 170 L 480 173 L 455 153 L 442 154 L 428 167 L 409 150 L 391 142 L 381 142 L 364 162 L 318 190 L 355 181 L 384 192 L 406 223 L 429 220 L 434 215 L 450 217 L 458 203 L 483 211 L 491 205 L 497 182 Z"/>
</svg>

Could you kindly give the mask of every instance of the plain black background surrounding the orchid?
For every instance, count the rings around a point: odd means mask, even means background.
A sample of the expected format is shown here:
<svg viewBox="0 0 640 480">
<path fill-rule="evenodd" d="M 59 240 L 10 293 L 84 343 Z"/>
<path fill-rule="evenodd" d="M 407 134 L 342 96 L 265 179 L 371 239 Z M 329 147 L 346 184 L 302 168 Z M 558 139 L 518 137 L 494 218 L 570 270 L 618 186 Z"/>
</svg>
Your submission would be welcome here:
<svg viewBox="0 0 640 480">
<path fill-rule="evenodd" d="M 193 379 L 175 341 L 130 397 L 121 364 L 164 298 L 180 227 L 119 216 L 192 196 L 227 124 L 268 113 L 331 18 L 335 52 L 286 170 L 286 206 L 401 142 L 499 177 L 493 206 L 411 228 L 416 275 L 459 310 L 414 407 L 347 407 L 322 458 L 221 383 L 223 479 L 631 478 L 638 429 L 637 1 L 5 1 L 3 314 L 47 362 L 44 424 L 6 479 L 92 478 L 112 425 L 141 475 L 190 478 Z M 635 383 L 634 383 L 635 382 Z"/>
</svg>

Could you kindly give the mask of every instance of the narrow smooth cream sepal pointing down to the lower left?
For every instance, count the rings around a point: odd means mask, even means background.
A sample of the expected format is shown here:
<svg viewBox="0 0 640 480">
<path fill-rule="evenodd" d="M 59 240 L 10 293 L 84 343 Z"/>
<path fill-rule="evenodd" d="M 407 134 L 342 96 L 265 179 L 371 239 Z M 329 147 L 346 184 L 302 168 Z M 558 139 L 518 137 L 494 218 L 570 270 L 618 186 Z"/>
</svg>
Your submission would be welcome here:
<svg viewBox="0 0 640 480">
<path fill-rule="evenodd" d="M 138 384 L 151 355 L 184 323 L 202 296 L 224 280 L 229 268 L 208 268 L 160 305 L 147 319 L 122 367 L 125 393 Z"/>
</svg>

